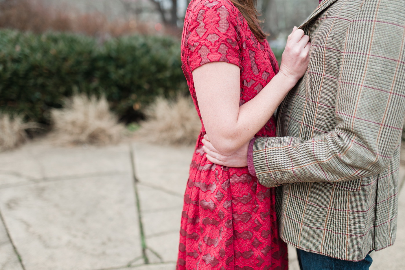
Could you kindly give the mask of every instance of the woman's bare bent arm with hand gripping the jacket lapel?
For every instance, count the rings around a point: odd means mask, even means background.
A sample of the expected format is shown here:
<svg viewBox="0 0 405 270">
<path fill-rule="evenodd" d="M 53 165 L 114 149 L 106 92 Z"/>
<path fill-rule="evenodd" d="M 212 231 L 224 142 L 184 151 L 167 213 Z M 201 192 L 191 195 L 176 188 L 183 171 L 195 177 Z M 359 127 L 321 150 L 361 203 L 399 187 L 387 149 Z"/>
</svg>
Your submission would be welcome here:
<svg viewBox="0 0 405 270">
<path fill-rule="evenodd" d="M 212 145 L 230 156 L 269 120 L 288 91 L 307 70 L 310 43 L 302 30 L 288 36 L 279 73 L 253 99 L 239 106 L 237 65 L 211 62 L 193 71 L 194 86 L 205 130 Z"/>
</svg>

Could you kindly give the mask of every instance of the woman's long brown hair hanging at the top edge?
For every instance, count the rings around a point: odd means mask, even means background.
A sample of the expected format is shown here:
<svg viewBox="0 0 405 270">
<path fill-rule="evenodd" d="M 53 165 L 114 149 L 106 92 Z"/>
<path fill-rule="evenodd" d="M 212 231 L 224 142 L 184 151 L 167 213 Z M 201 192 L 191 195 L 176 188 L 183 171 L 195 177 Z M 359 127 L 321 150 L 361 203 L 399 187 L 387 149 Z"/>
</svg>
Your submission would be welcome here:
<svg viewBox="0 0 405 270">
<path fill-rule="evenodd" d="M 247 21 L 247 24 L 250 27 L 250 30 L 253 32 L 254 36 L 257 40 L 263 41 L 266 34 L 263 32 L 262 27 L 260 27 L 260 21 L 258 19 L 258 15 L 260 15 L 256 9 L 256 1 L 255 0 L 230 0 L 242 13 L 243 17 Z"/>
</svg>

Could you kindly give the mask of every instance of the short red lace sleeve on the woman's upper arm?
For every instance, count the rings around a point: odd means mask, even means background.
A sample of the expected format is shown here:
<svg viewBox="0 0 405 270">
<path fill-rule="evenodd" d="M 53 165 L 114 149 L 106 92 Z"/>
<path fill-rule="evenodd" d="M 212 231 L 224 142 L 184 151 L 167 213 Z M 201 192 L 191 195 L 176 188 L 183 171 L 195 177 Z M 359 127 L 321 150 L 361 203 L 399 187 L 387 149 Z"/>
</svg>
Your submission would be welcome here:
<svg viewBox="0 0 405 270">
<path fill-rule="evenodd" d="M 188 17 L 185 44 L 191 72 L 215 61 L 241 67 L 237 9 L 228 0 L 199 1 Z"/>
</svg>

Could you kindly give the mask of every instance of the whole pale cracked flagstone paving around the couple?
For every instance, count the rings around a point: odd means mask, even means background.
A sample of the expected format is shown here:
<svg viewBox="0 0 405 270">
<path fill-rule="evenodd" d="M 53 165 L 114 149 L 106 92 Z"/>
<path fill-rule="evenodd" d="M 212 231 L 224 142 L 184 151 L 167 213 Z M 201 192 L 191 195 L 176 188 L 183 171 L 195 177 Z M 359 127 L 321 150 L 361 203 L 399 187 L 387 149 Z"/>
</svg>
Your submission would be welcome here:
<svg viewBox="0 0 405 270">
<path fill-rule="evenodd" d="M 0 153 L 0 270 L 174 270 L 193 150 L 37 141 Z M 403 224 L 404 188 L 396 242 L 371 270 L 405 269 Z M 298 270 L 293 247 L 289 258 Z"/>
</svg>

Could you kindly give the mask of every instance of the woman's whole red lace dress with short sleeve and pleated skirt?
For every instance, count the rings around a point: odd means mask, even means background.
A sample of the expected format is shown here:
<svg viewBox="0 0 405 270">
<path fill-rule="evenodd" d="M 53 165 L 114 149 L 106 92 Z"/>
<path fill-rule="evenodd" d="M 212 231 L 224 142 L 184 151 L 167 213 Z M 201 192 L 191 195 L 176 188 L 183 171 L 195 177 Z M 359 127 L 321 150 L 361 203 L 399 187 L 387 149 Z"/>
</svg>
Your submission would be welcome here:
<svg viewBox="0 0 405 270">
<path fill-rule="evenodd" d="M 257 95 L 278 72 L 269 43 L 256 40 L 229 0 L 190 2 L 181 60 L 199 115 L 192 71 L 200 65 L 212 61 L 238 65 L 240 105 Z M 228 168 L 207 160 L 203 135 L 204 124 L 185 190 L 177 269 L 288 269 L 287 247 L 277 228 L 275 190 L 258 184 L 247 167 Z M 256 136 L 275 136 L 274 117 Z"/>
</svg>

